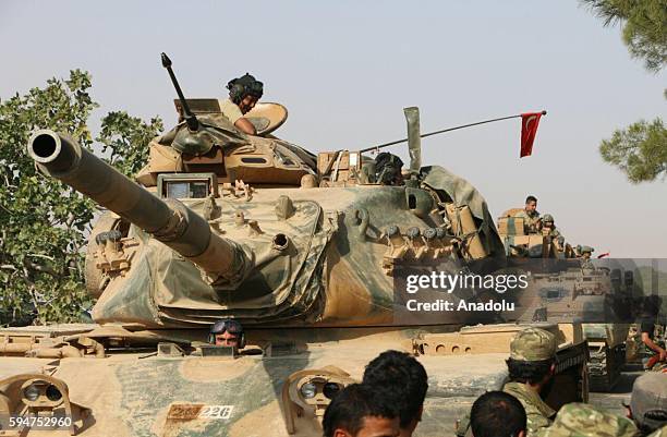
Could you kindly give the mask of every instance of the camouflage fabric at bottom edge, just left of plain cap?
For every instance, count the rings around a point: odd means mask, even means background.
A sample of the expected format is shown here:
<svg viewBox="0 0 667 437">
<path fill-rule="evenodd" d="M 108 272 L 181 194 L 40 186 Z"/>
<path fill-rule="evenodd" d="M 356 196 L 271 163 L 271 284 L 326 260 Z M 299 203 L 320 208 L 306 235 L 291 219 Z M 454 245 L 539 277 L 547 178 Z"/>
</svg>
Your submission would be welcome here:
<svg viewBox="0 0 667 437">
<path fill-rule="evenodd" d="M 598 410 L 587 403 L 563 405 L 554 424 L 538 434 L 541 437 L 633 437 L 634 423 L 616 414 Z"/>
</svg>

